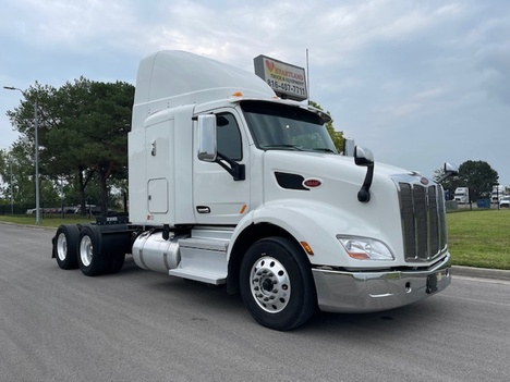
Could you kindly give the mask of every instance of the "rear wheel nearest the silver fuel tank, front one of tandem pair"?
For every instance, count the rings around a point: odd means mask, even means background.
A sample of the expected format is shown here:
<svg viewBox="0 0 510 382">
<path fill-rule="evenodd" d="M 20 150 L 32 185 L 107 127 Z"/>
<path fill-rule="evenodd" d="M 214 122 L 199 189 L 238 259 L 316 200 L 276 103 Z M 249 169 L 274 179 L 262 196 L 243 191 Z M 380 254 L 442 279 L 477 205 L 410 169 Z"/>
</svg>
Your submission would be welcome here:
<svg viewBox="0 0 510 382">
<path fill-rule="evenodd" d="M 85 225 L 80 232 L 77 260 L 83 274 L 88 276 L 106 273 L 108 259 L 102 254 L 101 232 L 97 226 Z"/>
</svg>

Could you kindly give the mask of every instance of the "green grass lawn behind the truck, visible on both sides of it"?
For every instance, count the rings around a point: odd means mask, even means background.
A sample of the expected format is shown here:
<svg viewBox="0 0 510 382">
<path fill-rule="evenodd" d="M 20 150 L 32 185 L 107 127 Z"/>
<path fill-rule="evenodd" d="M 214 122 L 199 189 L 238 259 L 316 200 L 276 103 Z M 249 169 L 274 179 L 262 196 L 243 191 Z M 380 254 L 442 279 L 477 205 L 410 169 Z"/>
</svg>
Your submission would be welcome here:
<svg viewBox="0 0 510 382">
<path fill-rule="evenodd" d="M 0 215 L 0 221 L 33 225 L 35 215 Z M 40 225 L 57 229 L 60 224 L 90 221 L 95 219 L 42 215 Z M 449 212 L 447 222 L 448 245 L 454 266 L 510 270 L 510 210 Z"/>
</svg>

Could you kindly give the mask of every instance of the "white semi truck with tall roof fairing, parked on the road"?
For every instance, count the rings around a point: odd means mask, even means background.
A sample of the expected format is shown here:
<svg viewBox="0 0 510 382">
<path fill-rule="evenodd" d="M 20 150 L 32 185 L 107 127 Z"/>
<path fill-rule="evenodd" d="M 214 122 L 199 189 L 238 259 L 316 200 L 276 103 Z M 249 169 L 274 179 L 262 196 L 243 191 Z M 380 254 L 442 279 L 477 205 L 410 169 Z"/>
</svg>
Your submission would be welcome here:
<svg viewBox="0 0 510 382">
<path fill-rule="evenodd" d="M 306 104 L 254 74 L 181 51 L 141 62 L 129 133 L 129 219 L 61 225 L 62 269 L 145 270 L 241 293 L 262 325 L 317 307 L 374 312 L 450 284 L 442 187 L 337 152 Z M 448 168 L 448 171 L 450 169 Z"/>
</svg>

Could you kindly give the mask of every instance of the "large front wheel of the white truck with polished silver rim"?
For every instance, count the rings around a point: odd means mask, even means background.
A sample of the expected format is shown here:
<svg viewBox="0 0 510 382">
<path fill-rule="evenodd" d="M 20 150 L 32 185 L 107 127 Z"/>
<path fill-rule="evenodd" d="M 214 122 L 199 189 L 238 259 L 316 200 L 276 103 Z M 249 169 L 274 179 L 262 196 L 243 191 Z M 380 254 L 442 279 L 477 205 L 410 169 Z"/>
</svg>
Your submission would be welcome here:
<svg viewBox="0 0 510 382">
<path fill-rule="evenodd" d="M 240 291 L 253 318 L 280 331 L 305 323 L 317 306 L 309 263 L 284 237 L 264 238 L 250 247 L 241 262 Z"/>
</svg>

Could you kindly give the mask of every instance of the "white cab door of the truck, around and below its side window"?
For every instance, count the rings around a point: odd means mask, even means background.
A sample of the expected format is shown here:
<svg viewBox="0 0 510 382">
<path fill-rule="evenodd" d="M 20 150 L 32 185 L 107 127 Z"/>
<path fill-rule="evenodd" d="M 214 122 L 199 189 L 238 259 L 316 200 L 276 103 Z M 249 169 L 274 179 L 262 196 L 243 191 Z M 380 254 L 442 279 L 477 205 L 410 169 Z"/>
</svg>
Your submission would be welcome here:
<svg viewBox="0 0 510 382">
<path fill-rule="evenodd" d="M 250 150 L 244 130 L 232 109 L 217 115 L 218 152 L 245 164 L 245 180 L 234 181 L 215 162 L 198 160 L 195 139 L 193 202 L 198 224 L 236 224 L 250 211 Z"/>
</svg>

